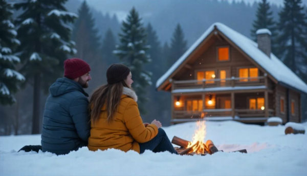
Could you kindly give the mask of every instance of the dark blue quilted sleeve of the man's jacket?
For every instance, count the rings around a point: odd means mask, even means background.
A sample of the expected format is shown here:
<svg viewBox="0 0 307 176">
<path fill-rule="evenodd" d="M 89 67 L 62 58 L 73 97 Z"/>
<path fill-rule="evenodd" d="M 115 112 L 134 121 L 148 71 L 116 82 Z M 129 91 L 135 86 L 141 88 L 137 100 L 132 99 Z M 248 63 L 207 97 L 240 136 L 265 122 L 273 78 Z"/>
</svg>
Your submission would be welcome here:
<svg viewBox="0 0 307 176">
<path fill-rule="evenodd" d="M 80 139 L 86 142 L 86 144 L 91 130 L 90 116 L 87 109 L 88 106 L 89 101 L 85 96 L 77 96 L 70 106 L 70 114 L 75 124 L 77 133 Z"/>
</svg>

